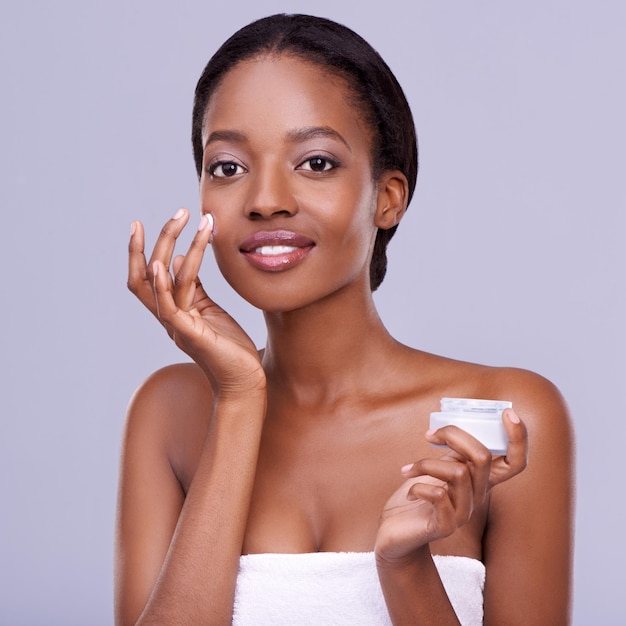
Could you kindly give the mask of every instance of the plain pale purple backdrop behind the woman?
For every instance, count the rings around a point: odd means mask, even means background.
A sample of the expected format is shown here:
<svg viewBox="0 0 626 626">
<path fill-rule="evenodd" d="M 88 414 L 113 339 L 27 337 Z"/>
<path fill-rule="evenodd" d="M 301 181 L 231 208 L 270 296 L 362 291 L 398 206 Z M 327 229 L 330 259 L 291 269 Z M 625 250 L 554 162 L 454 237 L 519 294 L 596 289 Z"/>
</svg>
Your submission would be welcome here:
<svg viewBox="0 0 626 626">
<path fill-rule="evenodd" d="M 578 439 L 575 623 L 625 623 L 620 0 L 2 3 L 0 623 L 112 622 L 125 406 L 181 359 L 126 291 L 129 225 L 153 241 L 197 210 L 195 81 L 234 30 L 278 11 L 348 24 L 405 87 L 421 172 L 383 319 L 413 346 L 561 388 Z M 260 314 L 212 258 L 203 269 L 263 343 Z"/>
</svg>

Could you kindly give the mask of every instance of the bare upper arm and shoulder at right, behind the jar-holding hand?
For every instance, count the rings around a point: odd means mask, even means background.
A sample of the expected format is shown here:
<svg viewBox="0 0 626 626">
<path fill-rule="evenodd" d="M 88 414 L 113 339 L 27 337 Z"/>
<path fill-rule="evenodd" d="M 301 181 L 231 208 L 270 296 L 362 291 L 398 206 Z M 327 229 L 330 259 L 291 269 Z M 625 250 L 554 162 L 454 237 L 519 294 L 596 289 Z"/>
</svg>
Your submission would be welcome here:
<svg viewBox="0 0 626 626">
<path fill-rule="evenodd" d="M 558 391 L 538 376 L 518 375 L 524 393 L 512 399 L 528 426 L 529 461 L 491 495 L 483 542 L 485 624 L 559 626 L 570 622 L 573 436 Z"/>
</svg>

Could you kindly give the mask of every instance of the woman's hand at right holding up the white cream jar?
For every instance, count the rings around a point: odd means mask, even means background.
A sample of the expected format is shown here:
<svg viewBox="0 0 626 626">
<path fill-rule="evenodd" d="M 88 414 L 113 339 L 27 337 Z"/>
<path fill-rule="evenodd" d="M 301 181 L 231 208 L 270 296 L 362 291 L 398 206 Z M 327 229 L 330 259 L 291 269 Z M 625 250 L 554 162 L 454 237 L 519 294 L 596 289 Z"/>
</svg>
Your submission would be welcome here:
<svg viewBox="0 0 626 626">
<path fill-rule="evenodd" d="M 402 563 L 416 550 L 466 524 L 489 490 L 526 467 L 526 427 L 512 409 L 503 416 L 509 438 L 506 455 L 492 457 L 485 446 L 455 426 L 428 431 L 430 443 L 450 448 L 402 468 L 406 481 L 383 509 L 376 556 Z"/>
</svg>

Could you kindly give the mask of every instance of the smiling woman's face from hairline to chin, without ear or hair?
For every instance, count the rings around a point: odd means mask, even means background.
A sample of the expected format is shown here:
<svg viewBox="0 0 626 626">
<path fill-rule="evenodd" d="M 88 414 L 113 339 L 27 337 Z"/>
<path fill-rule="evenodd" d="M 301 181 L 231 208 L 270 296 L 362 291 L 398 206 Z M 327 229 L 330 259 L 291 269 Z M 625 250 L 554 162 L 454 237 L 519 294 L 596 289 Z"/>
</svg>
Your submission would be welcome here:
<svg viewBox="0 0 626 626">
<path fill-rule="evenodd" d="M 378 185 L 350 100 L 319 66 L 266 56 L 236 65 L 209 102 L 202 212 L 222 274 L 265 311 L 369 289 Z"/>
</svg>

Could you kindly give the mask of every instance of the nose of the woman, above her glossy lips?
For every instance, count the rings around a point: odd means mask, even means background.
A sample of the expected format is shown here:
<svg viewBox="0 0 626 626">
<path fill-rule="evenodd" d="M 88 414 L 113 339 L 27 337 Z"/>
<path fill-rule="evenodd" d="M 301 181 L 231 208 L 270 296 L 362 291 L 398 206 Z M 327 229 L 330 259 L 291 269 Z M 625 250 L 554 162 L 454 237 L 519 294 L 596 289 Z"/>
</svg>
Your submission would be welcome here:
<svg viewBox="0 0 626 626">
<path fill-rule="evenodd" d="M 270 219 L 279 215 L 289 217 L 298 212 L 298 205 L 290 185 L 289 172 L 284 167 L 268 164 L 248 176 L 246 217 Z"/>
</svg>

